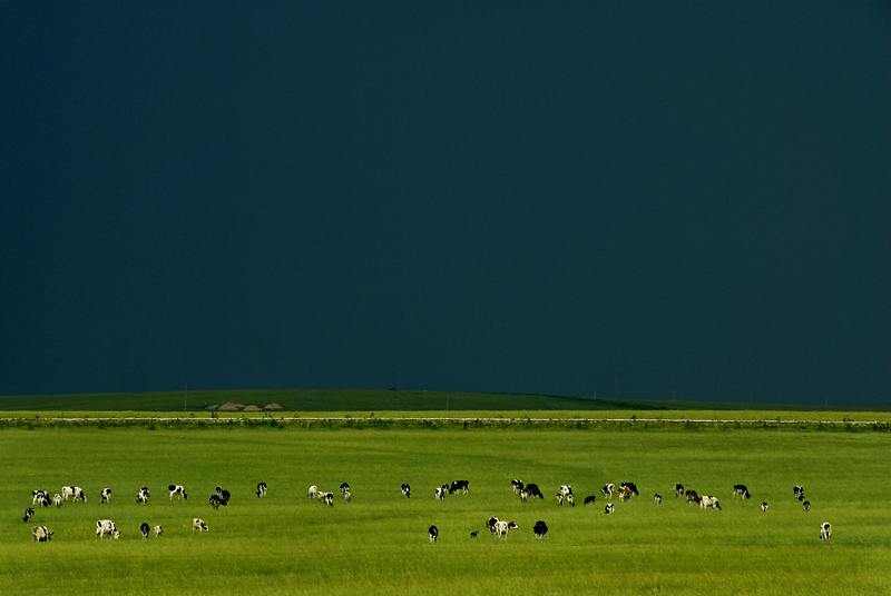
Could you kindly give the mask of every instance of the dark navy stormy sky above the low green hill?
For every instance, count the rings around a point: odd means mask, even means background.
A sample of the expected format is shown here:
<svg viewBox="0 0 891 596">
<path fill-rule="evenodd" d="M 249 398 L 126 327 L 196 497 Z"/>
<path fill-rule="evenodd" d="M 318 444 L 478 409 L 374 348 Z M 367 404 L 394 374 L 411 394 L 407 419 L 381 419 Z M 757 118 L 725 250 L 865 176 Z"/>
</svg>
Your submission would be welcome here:
<svg viewBox="0 0 891 596">
<path fill-rule="evenodd" d="M 0 0 L 0 395 L 888 406 L 891 4 L 551 4 Z"/>
</svg>

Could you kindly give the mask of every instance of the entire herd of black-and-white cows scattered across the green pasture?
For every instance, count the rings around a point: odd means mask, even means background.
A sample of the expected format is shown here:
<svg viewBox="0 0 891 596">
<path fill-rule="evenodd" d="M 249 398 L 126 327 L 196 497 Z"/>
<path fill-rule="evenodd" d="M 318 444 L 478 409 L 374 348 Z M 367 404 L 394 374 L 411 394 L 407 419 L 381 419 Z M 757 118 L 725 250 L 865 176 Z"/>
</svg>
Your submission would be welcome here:
<svg viewBox="0 0 891 596">
<path fill-rule="evenodd" d="M 519 479 L 515 479 L 511 481 L 511 486 L 513 489 L 515 495 L 518 495 L 520 500 L 526 503 L 528 499 L 533 499 L 538 497 L 539 499 L 544 499 L 545 496 L 541 493 L 541 489 L 537 484 L 526 484 Z M 182 485 L 169 485 L 168 486 L 169 493 L 169 500 L 173 500 L 174 497 L 177 500 L 187 500 L 188 495 L 186 489 Z M 256 495 L 257 497 L 262 498 L 266 496 L 266 483 L 257 484 Z M 444 500 L 447 495 L 453 494 L 468 494 L 470 491 L 470 483 L 468 480 L 454 480 L 452 483 L 447 483 L 441 486 L 434 488 L 434 497 L 437 500 L 442 501 Z M 343 483 L 340 486 L 340 493 L 343 499 L 346 503 L 350 503 L 352 495 L 350 490 L 350 485 L 347 483 Z M 403 498 L 411 498 L 411 487 L 409 484 L 402 484 L 401 493 Z M 635 483 L 621 483 L 618 488 L 613 483 L 607 483 L 600 489 L 604 498 L 607 500 L 611 500 L 614 495 L 618 495 L 618 499 L 620 501 L 626 501 L 633 497 L 639 495 L 637 489 L 637 485 Z M 811 509 L 811 504 L 807 500 L 804 500 L 804 489 L 801 486 L 795 486 L 793 489 L 793 495 L 795 499 L 802 501 L 802 507 L 804 511 L 809 511 Z M 748 488 L 745 485 L 736 484 L 733 486 L 733 498 L 742 498 L 744 500 L 750 499 L 752 497 Z M 61 507 L 61 505 L 72 499 L 75 501 L 80 500 L 86 503 L 87 497 L 82 490 L 82 488 L 78 486 L 63 486 L 61 491 L 53 495 L 50 498 L 49 493 L 46 490 L 33 490 L 31 493 L 31 505 L 38 507 L 48 507 L 50 503 L 55 504 L 56 507 Z M 334 506 L 334 493 L 321 490 L 317 485 L 310 486 L 307 491 L 307 497 L 317 499 L 320 503 L 326 505 L 327 507 Z M 685 487 L 681 484 L 675 485 L 675 497 L 676 498 L 685 498 L 686 503 L 698 505 L 701 508 L 706 509 L 717 509 L 721 510 L 721 503 L 718 501 L 717 497 L 713 495 L 698 495 L 696 490 L 693 489 L 685 489 Z M 109 488 L 102 488 L 100 491 L 100 503 L 106 504 L 111 501 L 111 490 Z M 216 487 L 215 494 L 210 495 L 208 503 L 214 509 L 217 509 L 221 506 L 227 506 L 229 503 L 231 494 L 228 490 L 224 489 L 221 486 Z M 575 496 L 572 494 L 572 487 L 568 484 L 560 485 L 557 489 L 556 494 L 557 504 L 562 506 L 567 504 L 570 507 L 575 507 Z M 139 505 L 146 505 L 149 499 L 149 489 L 148 487 L 141 487 L 137 491 L 136 503 Z M 597 500 L 596 495 L 588 495 L 584 498 L 582 504 L 585 506 L 594 505 Z M 663 497 L 660 494 L 656 493 L 654 495 L 654 501 L 656 505 L 662 504 Z M 768 504 L 766 501 L 761 504 L 761 510 L 763 513 L 767 513 Z M 610 515 L 615 513 L 616 508 L 613 503 L 607 503 L 604 507 L 604 514 Z M 23 520 L 28 523 L 31 518 L 35 517 L 35 508 L 28 507 L 25 511 Z M 507 539 L 508 534 L 511 529 L 517 529 L 519 526 L 516 522 L 507 522 L 499 519 L 496 516 L 490 517 L 486 523 L 487 528 L 489 532 L 497 536 L 498 538 Z M 208 529 L 207 524 L 196 517 L 193 519 L 192 523 L 193 532 L 204 532 Z M 160 537 L 164 533 L 164 529 L 160 525 L 149 526 L 148 523 L 143 523 L 139 527 L 139 532 L 143 538 L 148 538 L 148 536 L 154 533 L 156 537 Z M 545 535 L 548 533 L 548 526 L 544 520 L 536 522 L 535 526 L 532 527 L 532 532 L 537 539 L 541 540 Z M 32 536 L 35 542 L 49 542 L 50 538 L 55 535 L 55 532 L 50 532 L 47 526 L 35 526 L 32 528 Z M 106 535 L 110 536 L 112 539 L 118 539 L 120 537 L 120 530 L 117 529 L 115 523 L 111 519 L 99 519 L 96 522 L 96 536 L 99 539 L 102 539 Z M 470 534 L 471 538 L 474 538 L 479 535 L 479 530 L 474 530 Z M 439 538 L 439 528 L 435 525 L 431 525 L 428 528 L 428 536 L 431 544 L 435 544 Z M 832 526 L 824 522 L 820 526 L 820 539 L 824 542 L 831 542 L 832 539 Z"/>
</svg>

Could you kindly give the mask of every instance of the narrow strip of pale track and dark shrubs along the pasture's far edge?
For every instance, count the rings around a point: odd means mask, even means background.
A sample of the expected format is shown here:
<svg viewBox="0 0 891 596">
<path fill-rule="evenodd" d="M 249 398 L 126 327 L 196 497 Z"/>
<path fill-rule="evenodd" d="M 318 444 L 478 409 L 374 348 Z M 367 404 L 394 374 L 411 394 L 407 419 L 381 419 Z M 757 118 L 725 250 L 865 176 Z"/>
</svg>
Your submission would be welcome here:
<svg viewBox="0 0 891 596">
<path fill-rule="evenodd" d="M 0 421 L 26 421 L 32 418 L 10 418 L 0 417 Z M 654 424 L 654 425 L 842 425 L 842 426 L 872 426 L 885 425 L 888 423 L 879 420 L 783 420 L 783 419 L 722 419 L 722 418 L 503 418 L 503 417 L 351 417 L 351 416 L 270 416 L 270 417 L 241 417 L 241 416 L 223 416 L 223 417 L 192 417 L 192 416 L 126 416 L 126 417 L 38 417 L 36 420 L 41 423 L 115 423 L 115 421 L 129 421 L 129 423 L 217 423 L 229 424 L 235 421 L 249 421 L 249 423 L 442 423 L 442 424 L 570 424 L 570 423 L 586 423 L 586 424 Z"/>
</svg>

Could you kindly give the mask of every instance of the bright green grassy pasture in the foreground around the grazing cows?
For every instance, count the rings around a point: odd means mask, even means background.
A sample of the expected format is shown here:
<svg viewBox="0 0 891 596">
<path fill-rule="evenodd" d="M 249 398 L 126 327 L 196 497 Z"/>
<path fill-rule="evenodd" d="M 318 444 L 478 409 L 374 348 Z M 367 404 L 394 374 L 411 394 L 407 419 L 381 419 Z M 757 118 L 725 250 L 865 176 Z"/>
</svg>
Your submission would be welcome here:
<svg viewBox="0 0 891 596">
<path fill-rule="evenodd" d="M 787 596 L 891 586 L 887 433 L 62 426 L 3 428 L 0 461 L 0 594 Z M 434 500 L 435 486 L 464 478 L 469 495 Z M 539 484 L 546 500 L 520 503 L 512 478 Z M 260 480 L 265 499 L 254 495 Z M 605 516 L 599 488 L 623 480 L 642 494 Z M 342 481 L 350 504 L 339 494 L 333 508 L 305 497 L 311 484 L 336 494 Z M 717 496 L 723 510 L 675 499 L 678 481 Z M 750 487 L 750 501 L 732 498 L 735 483 Z M 31 490 L 71 484 L 87 503 L 22 523 Z M 189 499 L 169 500 L 168 484 L 185 485 Z M 575 508 L 557 505 L 560 484 L 572 485 Z M 813 504 L 807 514 L 792 496 L 796 484 Z M 147 506 L 135 503 L 143 485 Z M 217 485 L 233 499 L 214 511 L 207 497 Z M 105 486 L 112 501 L 100 505 Z M 582 506 L 591 494 L 596 505 Z M 491 515 L 519 529 L 498 540 L 484 530 Z M 210 530 L 193 533 L 193 517 Z M 95 538 L 100 518 L 116 522 L 119 542 Z M 541 542 L 537 519 L 550 527 Z M 824 520 L 832 545 L 817 537 Z M 165 535 L 141 539 L 141 522 Z M 52 542 L 33 543 L 33 525 L 56 532 Z M 471 539 L 472 530 L 483 532 Z"/>
</svg>

